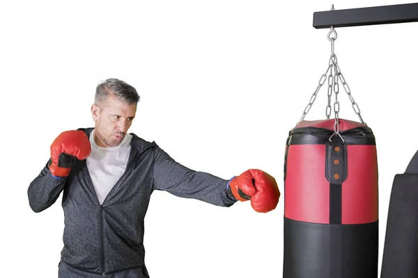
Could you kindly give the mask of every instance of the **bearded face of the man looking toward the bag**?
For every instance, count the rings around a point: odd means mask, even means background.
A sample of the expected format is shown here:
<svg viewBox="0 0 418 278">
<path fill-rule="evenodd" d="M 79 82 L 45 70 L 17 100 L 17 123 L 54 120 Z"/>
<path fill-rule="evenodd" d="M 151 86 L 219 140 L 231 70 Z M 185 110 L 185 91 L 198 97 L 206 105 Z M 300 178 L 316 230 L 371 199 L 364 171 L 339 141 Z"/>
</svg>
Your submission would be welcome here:
<svg viewBox="0 0 418 278">
<path fill-rule="evenodd" d="M 99 147 L 116 147 L 134 120 L 137 104 L 125 104 L 114 96 L 106 101 L 91 106 L 91 113 L 95 121 L 94 137 Z"/>
</svg>

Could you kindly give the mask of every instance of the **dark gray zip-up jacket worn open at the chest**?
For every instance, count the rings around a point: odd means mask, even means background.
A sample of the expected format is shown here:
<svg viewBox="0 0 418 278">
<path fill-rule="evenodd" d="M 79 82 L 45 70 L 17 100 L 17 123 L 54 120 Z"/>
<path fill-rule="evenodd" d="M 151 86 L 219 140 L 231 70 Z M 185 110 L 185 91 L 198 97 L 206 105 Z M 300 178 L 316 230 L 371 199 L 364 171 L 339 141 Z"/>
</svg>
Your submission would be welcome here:
<svg viewBox="0 0 418 278">
<path fill-rule="evenodd" d="M 87 136 L 93 128 L 83 130 Z M 144 267 L 144 217 L 153 190 L 231 206 L 229 180 L 191 170 L 173 160 L 155 142 L 132 134 L 125 173 L 102 205 L 93 188 L 86 160 L 76 161 L 68 177 L 55 179 L 48 164 L 28 188 L 36 213 L 52 206 L 63 193 L 65 217 L 61 261 L 73 268 L 108 274 Z M 50 159 L 50 158 L 49 158 Z"/>
</svg>

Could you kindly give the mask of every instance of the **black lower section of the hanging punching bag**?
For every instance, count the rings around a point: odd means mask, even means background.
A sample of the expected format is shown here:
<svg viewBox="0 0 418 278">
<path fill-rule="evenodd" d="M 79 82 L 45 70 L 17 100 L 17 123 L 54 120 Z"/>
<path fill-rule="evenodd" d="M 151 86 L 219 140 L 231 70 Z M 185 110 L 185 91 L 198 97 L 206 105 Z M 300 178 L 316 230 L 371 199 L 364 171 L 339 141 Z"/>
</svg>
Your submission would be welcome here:
<svg viewBox="0 0 418 278">
<path fill-rule="evenodd" d="M 378 222 L 313 224 L 284 218 L 283 278 L 354 277 L 378 277 Z"/>
</svg>

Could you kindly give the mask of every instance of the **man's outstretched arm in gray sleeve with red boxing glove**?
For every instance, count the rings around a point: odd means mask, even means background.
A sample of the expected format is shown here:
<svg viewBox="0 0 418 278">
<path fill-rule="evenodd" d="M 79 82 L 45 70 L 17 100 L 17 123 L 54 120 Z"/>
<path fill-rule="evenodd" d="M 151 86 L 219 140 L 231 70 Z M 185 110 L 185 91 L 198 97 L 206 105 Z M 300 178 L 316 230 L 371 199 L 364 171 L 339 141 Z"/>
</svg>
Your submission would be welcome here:
<svg viewBox="0 0 418 278">
<path fill-rule="evenodd" d="M 259 213 L 276 208 L 280 197 L 276 180 L 262 170 L 249 169 L 230 180 L 221 179 L 177 163 L 160 147 L 155 148 L 154 187 L 217 206 L 250 200 L 254 211 Z"/>
</svg>

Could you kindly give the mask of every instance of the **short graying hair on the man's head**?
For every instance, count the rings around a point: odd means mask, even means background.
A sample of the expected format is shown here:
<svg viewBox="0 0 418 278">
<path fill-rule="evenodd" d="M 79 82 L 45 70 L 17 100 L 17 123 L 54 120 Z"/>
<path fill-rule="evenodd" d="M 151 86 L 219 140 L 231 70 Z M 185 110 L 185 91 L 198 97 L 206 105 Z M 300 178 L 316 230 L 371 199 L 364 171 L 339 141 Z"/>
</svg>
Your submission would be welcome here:
<svg viewBox="0 0 418 278">
<path fill-rule="evenodd" d="M 119 79 L 106 79 L 97 85 L 94 103 L 99 104 L 106 101 L 110 95 L 114 95 L 127 104 L 137 104 L 139 102 L 138 92 L 132 85 Z"/>
</svg>

